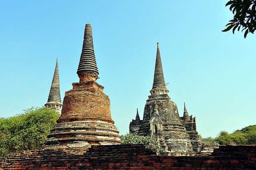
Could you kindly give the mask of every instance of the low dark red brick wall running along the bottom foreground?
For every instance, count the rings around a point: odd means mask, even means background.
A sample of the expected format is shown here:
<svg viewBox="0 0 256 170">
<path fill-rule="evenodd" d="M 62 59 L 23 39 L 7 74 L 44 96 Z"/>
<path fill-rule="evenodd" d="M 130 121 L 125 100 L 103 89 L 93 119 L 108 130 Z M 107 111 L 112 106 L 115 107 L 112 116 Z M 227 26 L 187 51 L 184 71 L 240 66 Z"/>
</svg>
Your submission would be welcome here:
<svg viewBox="0 0 256 170">
<path fill-rule="evenodd" d="M 74 154 L 76 153 L 76 154 Z M 79 150 L 24 151 L 0 160 L 0 170 L 172 169 L 255 170 L 256 146 L 220 146 L 212 156 L 154 156 L 142 145 L 92 146 Z"/>
</svg>

